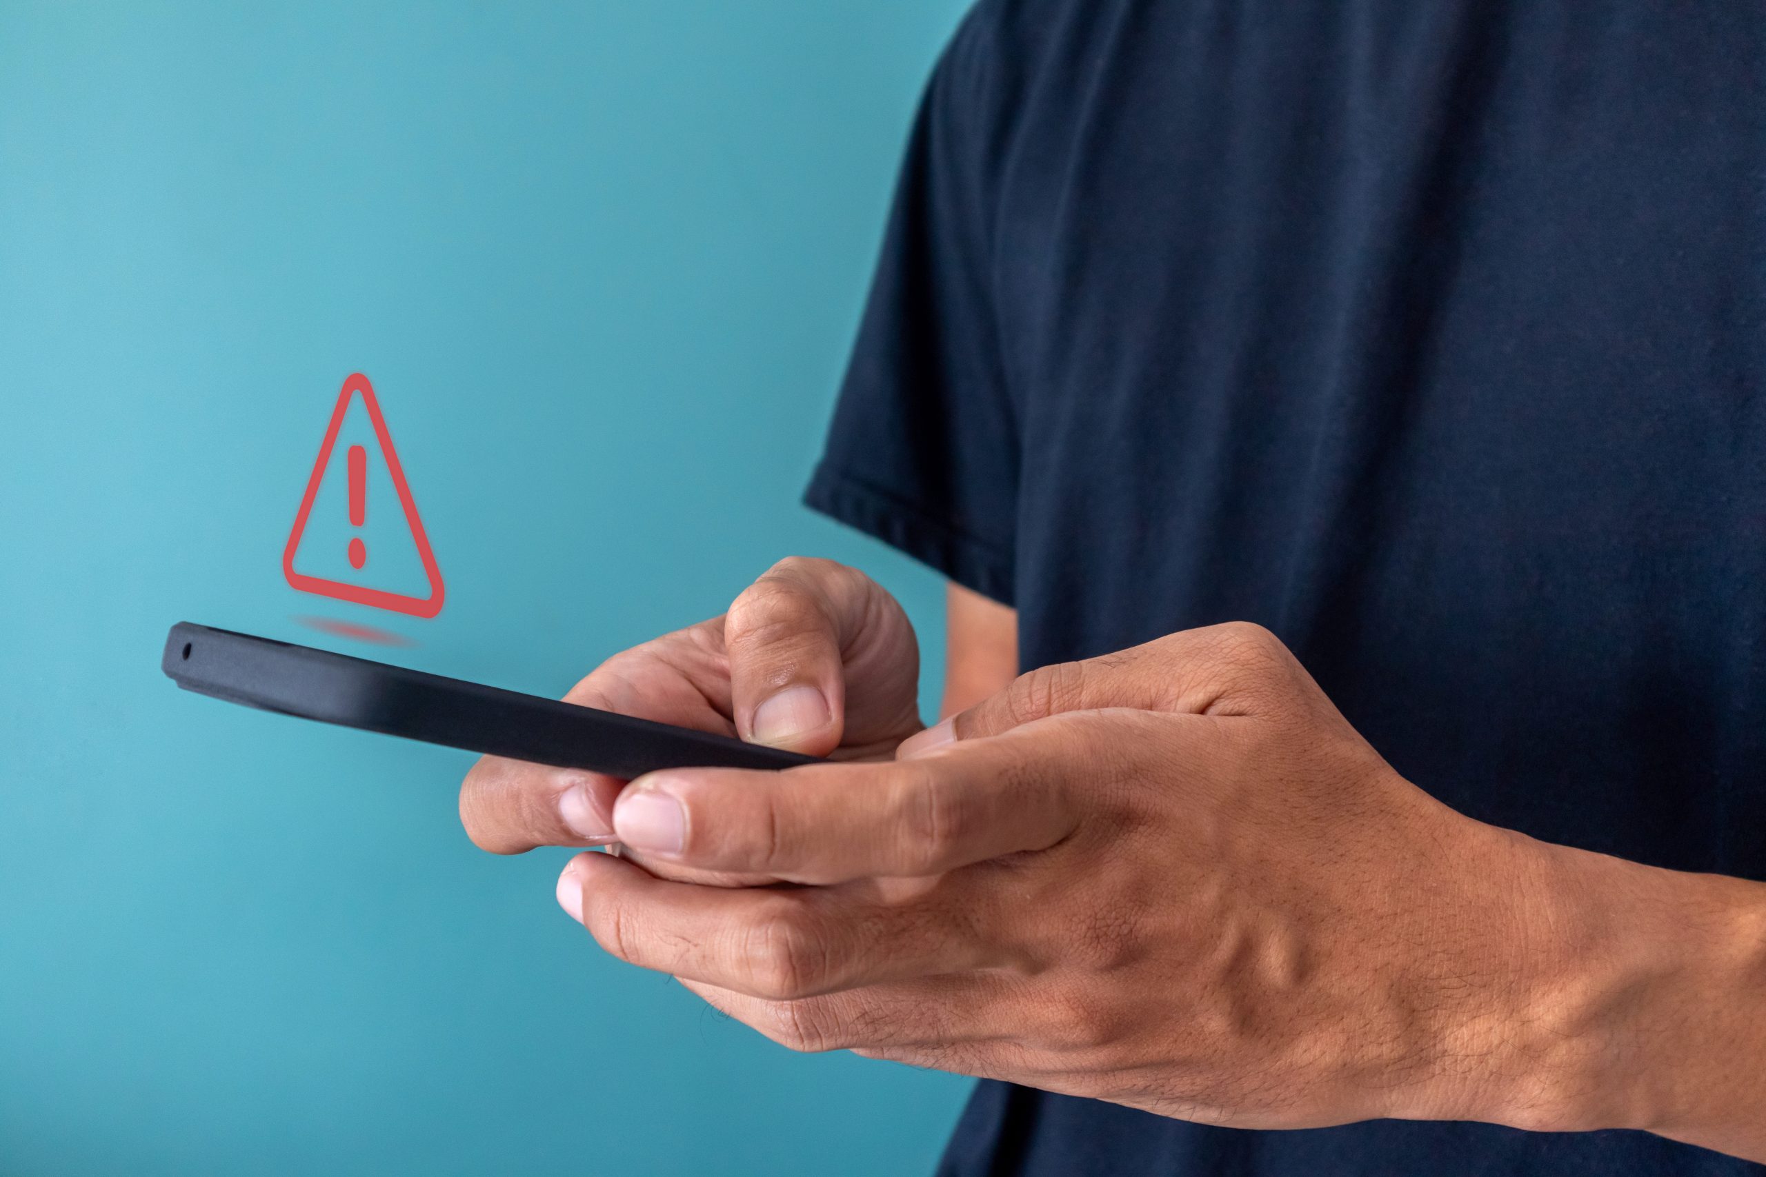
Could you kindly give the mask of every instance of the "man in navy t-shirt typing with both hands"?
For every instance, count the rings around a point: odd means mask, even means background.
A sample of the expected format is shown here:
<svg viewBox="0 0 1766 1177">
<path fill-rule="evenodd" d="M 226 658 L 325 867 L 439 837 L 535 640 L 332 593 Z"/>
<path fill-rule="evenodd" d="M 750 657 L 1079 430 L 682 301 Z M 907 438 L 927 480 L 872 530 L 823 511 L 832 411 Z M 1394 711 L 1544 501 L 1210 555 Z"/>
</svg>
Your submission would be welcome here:
<svg viewBox="0 0 1766 1177">
<path fill-rule="evenodd" d="M 1754 4 L 984 0 L 809 489 L 954 720 L 786 561 L 570 697 L 842 764 L 468 831 L 948 1173 L 1766 1172 L 1762 176 Z"/>
</svg>

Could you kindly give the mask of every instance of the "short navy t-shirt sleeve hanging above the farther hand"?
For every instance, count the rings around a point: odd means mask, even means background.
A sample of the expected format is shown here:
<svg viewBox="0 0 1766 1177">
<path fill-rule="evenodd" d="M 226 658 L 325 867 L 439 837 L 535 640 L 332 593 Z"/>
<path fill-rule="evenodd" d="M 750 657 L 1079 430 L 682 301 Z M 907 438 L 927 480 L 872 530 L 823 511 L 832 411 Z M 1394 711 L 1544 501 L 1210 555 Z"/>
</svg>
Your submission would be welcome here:
<svg viewBox="0 0 1766 1177">
<path fill-rule="evenodd" d="M 826 448 L 804 501 L 1012 603 L 1019 436 L 991 258 L 1000 143 L 975 12 L 922 99 Z"/>
</svg>

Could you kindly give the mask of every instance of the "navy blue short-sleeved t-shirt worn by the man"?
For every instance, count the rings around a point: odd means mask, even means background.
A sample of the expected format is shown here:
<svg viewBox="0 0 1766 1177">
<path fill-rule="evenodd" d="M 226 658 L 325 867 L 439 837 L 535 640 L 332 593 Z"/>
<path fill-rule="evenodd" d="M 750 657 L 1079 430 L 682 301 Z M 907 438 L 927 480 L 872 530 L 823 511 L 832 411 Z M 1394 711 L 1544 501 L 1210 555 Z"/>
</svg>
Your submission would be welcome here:
<svg viewBox="0 0 1766 1177">
<path fill-rule="evenodd" d="M 1766 5 L 984 0 L 807 498 L 1026 667 L 1259 621 L 1457 810 L 1766 879 Z M 982 1083 L 943 1172 L 1766 1166 Z"/>
</svg>

